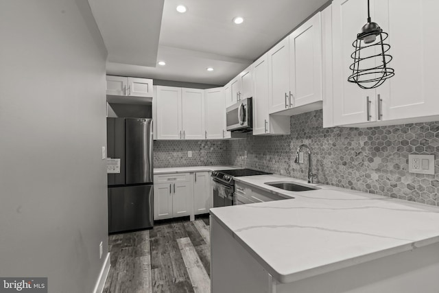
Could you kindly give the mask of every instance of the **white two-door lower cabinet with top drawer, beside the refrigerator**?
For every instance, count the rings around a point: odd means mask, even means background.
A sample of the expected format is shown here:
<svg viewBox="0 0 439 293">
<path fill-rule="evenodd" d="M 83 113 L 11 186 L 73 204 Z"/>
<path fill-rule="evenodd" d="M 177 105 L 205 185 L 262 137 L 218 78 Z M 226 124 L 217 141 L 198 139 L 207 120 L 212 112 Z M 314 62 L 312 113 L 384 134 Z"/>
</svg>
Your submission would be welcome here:
<svg viewBox="0 0 439 293">
<path fill-rule="evenodd" d="M 154 175 L 154 220 L 193 215 L 191 174 Z"/>
</svg>

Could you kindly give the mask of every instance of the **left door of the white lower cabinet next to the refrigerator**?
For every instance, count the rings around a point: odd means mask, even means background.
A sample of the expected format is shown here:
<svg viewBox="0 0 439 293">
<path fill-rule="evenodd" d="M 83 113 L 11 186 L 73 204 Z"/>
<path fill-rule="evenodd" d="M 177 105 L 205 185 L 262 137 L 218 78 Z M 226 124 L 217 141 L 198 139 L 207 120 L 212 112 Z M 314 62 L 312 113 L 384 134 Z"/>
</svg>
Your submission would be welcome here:
<svg viewBox="0 0 439 293">
<path fill-rule="evenodd" d="M 172 218 L 172 187 L 174 183 L 154 184 L 154 220 Z"/>
</svg>

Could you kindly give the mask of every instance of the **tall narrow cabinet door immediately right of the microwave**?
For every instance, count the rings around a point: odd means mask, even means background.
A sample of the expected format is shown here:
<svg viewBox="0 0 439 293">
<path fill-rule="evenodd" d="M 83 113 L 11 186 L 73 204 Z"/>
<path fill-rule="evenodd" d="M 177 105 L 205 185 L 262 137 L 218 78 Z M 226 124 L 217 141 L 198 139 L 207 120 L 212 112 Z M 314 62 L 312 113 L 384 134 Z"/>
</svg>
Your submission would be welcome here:
<svg viewBox="0 0 439 293">
<path fill-rule="evenodd" d="M 268 54 L 254 62 L 253 134 L 268 132 Z"/>
</svg>

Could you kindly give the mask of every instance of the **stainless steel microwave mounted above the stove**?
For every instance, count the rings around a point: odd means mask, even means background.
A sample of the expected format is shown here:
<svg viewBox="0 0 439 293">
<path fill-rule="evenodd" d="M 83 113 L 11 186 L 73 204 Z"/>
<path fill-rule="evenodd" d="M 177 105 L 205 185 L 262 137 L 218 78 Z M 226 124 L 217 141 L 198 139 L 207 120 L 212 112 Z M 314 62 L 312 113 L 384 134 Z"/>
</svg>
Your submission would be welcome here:
<svg viewBox="0 0 439 293">
<path fill-rule="evenodd" d="M 248 97 L 227 107 L 227 130 L 232 132 L 252 131 L 252 98 Z"/>
</svg>

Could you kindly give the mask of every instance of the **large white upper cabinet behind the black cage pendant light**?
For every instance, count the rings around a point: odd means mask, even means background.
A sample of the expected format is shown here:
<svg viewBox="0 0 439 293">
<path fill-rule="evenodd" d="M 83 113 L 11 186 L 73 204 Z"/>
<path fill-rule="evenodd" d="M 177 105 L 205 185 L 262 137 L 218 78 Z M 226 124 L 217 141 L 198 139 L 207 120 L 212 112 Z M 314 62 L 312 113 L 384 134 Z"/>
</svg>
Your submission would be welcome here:
<svg viewBox="0 0 439 293">
<path fill-rule="evenodd" d="M 372 0 L 370 16 L 388 32 L 394 77 L 376 89 L 347 82 L 353 62 L 353 41 L 366 23 L 367 1 L 333 1 L 333 124 L 375 126 L 436 120 L 439 84 L 436 68 L 439 45 L 435 12 L 439 1 Z M 410 25 L 407 26 L 407 17 Z M 410 38 L 407 39 L 407 36 Z M 379 49 L 379 48 L 377 48 Z M 378 52 L 378 51 L 377 51 Z M 379 65 L 375 58 L 371 66 Z"/>
</svg>

